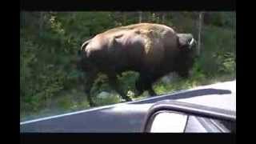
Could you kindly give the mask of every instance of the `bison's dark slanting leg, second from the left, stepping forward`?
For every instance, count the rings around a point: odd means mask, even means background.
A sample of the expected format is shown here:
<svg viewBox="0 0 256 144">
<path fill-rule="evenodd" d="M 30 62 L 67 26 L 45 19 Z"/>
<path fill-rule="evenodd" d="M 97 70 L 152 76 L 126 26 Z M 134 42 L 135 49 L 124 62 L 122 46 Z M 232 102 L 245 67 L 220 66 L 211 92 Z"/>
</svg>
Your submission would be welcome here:
<svg viewBox="0 0 256 144">
<path fill-rule="evenodd" d="M 110 80 L 110 86 L 113 87 L 114 90 L 116 90 L 118 92 L 118 94 L 121 95 L 121 97 L 123 99 L 125 99 L 126 101 L 130 102 L 132 101 L 131 98 L 129 98 L 121 89 L 121 87 L 118 85 L 118 78 L 116 74 L 107 74 L 108 78 Z"/>
</svg>

